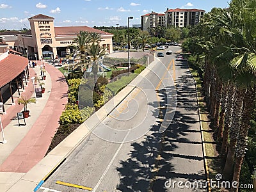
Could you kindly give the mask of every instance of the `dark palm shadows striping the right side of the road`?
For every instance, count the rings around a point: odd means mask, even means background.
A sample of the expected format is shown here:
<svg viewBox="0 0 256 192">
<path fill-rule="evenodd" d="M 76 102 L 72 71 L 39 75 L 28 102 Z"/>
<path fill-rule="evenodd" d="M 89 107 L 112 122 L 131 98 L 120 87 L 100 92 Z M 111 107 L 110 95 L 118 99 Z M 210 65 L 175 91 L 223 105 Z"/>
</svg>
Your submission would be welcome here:
<svg viewBox="0 0 256 192">
<path fill-rule="evenodd" d="M 195 99 L 195 84 L 190 74 L 176 80 L 177 108 L 168 129 L 159 133 L 162 122 L 158 121 L 150 129 L 144 140 L 131 144 L 130 157 L 120 162 L 116 168 L 120 176 L 120 191 L 170 191 L 164 184 L 169 179 L 177 181 L 206 181 L 202 140 Z M 154 106 L 154 115 L 163 119 L 168 97 L 173 97 L 173 87 L 159 90 L 160 102 L 148 103 Z M 191 97 L 194 95 L 194 97 Z M 167 110 L 168 111 L 168 110 Z M 172 110 L 171 110 L 172 111 Z M 159 113 L 158 113 L 159 112 Z M 171 189 L 171 191 L 184 191 Z M 206 191 L 206 189 L 189 189 L 189 191 Z"/>
</svg>

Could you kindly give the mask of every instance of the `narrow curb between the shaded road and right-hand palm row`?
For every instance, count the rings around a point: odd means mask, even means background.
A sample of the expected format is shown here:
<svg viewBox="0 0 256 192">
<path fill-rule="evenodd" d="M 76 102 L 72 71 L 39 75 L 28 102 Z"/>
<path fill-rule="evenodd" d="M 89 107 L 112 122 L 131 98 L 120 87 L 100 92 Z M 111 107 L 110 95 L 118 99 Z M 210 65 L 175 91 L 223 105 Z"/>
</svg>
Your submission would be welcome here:
<svg viewBox="0 0 256 192">
<path fill-rule="evenodd" d="M 188 61 L 186 61 L 187 65 L 188 65 L 188 70 L 191 74 L 191 76 L 193 77 L 194 83 L 195 83 L 195 88 L 196 88 L 196 102 L 197 102 L 197 110 L 198 110 L 198 116 L 199 116 L 199 123 L 200 123 L 200 132 L 201 132 L 201 140 L 202 140 L 202 148 L 203 148 L 203 156 L 204 156 L 204 166 L 205 166 L 205 173 L 207 175 L 207 184 L 208 184 L 208 188 L 207 191 L 211 192 L 211 184 L 210 184 L 210 178 L 209 178 L 209 167 L 208 167 L 208 163 L 207 163 L 207 159 L 205 159 L 205 154 L 206 154 L 206 150 L 205 150 L 205 143 L 204 143 L 204 132 L 202 130 L 202 118 L 201 118 L 201 111 L 200 111 L 200 107 L 199 107 L 199 99 L 198 99 L 198 90 L 197 90 L 197 86 L 196 86 L 196 80 L 194 78 L 194 76 L 192 75 L 192 72 L 189 68 L 189 64 Z"/>
</svg>

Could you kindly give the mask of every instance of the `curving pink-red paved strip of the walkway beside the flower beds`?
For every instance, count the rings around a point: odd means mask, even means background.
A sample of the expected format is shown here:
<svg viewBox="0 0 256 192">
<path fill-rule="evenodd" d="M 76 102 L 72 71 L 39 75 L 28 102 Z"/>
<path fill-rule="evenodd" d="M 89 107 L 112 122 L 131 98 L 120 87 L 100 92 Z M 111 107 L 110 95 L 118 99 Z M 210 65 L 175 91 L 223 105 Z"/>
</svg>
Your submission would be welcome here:
<svg viewBox="0 0 256 192">
<path fill-rule="evenodd" d="M 10 156 L 7 157 L 6 161 L 1 164 L 0 172 L 28 172 L 44 158 L 51 144 L 51 139 L 59 127 L 58 120 L 65 108 L 65 104 L 67 104 L 68 85 L 65 77 L 57 68 L 45 63 L 45 70 L 50 74 L 52 81 L 52 90 L 47 104 L 28 134 L 26 134 Z M 33 88 L 31 83 L 29 84 L 29 89 L 32 89 L 32 94 Z M 20 108 L 20 110 L 22 109 Z M 13 115 L 11 116 L 17 114 L 14 111 L 13 109 Z M 12 112 L 8 111 L 8 114 L 10 113 Z"/>
</svg>

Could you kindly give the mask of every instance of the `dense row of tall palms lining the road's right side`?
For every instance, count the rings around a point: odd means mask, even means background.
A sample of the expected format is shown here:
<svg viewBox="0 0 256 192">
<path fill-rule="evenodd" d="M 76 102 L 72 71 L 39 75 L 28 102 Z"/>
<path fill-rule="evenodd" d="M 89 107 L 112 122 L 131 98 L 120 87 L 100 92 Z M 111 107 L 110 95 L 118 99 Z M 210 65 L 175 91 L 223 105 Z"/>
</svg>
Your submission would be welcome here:
<svg viewBox="0 0 256 192">
<path fill-rule="evenodd" d="M 196 29 L 197 54 L 205 61 L 205 95 L 225 162 L 223 175 L 239 182 L 255 102 L 256 0 L 232 0 L 228 9 L 214 8 Z"/>
</svg>

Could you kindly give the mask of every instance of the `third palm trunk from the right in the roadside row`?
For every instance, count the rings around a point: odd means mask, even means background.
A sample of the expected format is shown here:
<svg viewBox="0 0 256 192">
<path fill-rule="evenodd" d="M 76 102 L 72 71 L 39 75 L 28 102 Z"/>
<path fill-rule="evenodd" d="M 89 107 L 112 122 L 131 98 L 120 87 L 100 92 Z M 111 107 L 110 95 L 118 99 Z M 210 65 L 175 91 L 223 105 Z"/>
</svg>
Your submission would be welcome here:
<svg viewBox="0 0 256 192">
<path fill-rule="evenodd" d="M 229 83 L 228 85 L 228 98 L 227 98 L 227 113 L 225 113 L 225 125 L 223 131 L 223 140 L 221 145 L 221 157 L 223 160 L 227 154 L 228 146 L 228 131 L 232 125 L 232 114 L 233 114 L 233 104 L 234 104 L 234 84 Z"/>
</svg>

